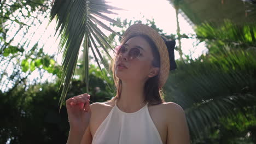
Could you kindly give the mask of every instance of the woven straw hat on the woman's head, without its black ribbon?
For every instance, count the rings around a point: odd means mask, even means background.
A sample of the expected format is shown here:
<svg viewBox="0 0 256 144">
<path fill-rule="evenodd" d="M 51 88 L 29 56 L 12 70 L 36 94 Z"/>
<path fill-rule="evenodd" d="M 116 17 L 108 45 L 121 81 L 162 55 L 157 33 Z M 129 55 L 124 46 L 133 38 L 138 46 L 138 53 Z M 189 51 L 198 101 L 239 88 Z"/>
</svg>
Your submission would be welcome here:
<svg viewBox="0 0 256 144">
<path fill-rule="evenodd" d="M 147 25 L 143 25 L 141 23 L 136 23 L 130 26 L 129 28 L 127 28 L 127 30 L 123 35 L 123 39 L 121 40 L 121 43 L 126 42 L 133 35 L 147 35 L 150 39 L 153 40 L 156 47 L 158 48 L 158 51 L 160 54 L 160 71 L 159 71 L 158 84 L 159 84 L 159 88 L 164 87 L 170 72 L 170 61 L 169 61 L 169 55 L 168 55 L 168 50 L 167 50 L 165 40 L 153 28 Z"/>
</svg>

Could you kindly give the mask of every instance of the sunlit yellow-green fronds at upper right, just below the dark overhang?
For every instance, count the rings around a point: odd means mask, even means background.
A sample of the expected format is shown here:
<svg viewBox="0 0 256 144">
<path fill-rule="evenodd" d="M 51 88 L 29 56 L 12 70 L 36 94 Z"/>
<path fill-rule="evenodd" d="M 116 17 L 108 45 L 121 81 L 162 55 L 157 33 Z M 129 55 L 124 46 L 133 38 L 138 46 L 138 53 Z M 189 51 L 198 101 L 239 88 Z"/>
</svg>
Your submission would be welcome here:
<svg viewBox="0 0 256 144">
<path fill-rule="evenodd" d="M 256 43 L 256 26 L 253 23 L 238 25 L 230 20 L 224 20 L 223 25 L 219 26 L 219 23 L 205 22 L 197 26 L 195 31 L 197 38 L 202 40 L 219 40 L 227 44 L 252 46 Z"/>
</svg>

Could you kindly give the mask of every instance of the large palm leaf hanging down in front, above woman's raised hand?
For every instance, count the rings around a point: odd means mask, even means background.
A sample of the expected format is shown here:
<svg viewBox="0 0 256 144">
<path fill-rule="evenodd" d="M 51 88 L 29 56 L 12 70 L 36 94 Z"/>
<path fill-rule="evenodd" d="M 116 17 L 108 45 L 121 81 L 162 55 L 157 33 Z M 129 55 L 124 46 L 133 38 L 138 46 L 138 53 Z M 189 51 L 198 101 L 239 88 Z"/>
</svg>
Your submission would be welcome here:
<svg viewBox="0 0 256 144">
<path fill-rule="evenodd" d="M 85 75 L 86 75 L 86 93 L 89 93 L 88 89 L 88 73 L 89 73 L 89 59 L 88 52 L 89 47 L 94 54 L 97 64 L 100 67 L 100 62 L 95 55 L 96 50 L 98 56 L 103 62 L 102 54 L 96 44 L 100 45 L 102 49 L 107 52 L 106 46 L 109 48 L 110 45 L 107 44 L 106 35 L 100 31 L 98 26 L 115 33 L 106 24 L 101 22 L 100 19 L 106 20 L 108 22 L 113 22 L 116 25 L 120 25 L 117 21 L 111 19 L 104 14 L 116 14 L 111 10 L 121 10 L 119 8 L 112 7 L 106 3 L 104 0 L 56 0 L 54 2 L 53 8 L 51 9 L 50 22 L 56 17 L 57 26 L 56 33 L 60 32 L 60 44 L 58 47 L 59 51 L 63 51 L 62 59 L 62 73 L 61 73 L 61 83 L 59 91 L 62 88 L 61 98 L 60 98 L 60 109 L 65 100 L 68 92 L 72 76 L 74 75 L 75 65 L 77 63 L 78 54 L 82 41 L 84 40 L 84 64 L 85 64 Z M 93 21 L 93 22 L 92 22 Z M 56 34 L 55 33 L 55 34 Z M 117 33 L 116 33 L 117 34 Z M 92 37 L 94 35 L 94 37 Z M 93 44 L 93 45 L 91 45 Z M 92 48 L 94 47 L 94 49 Z M 107 52 L 107 55 L 109 53 Z M 103 72 L 102 72 L 103 73 Z"/>
</svg>

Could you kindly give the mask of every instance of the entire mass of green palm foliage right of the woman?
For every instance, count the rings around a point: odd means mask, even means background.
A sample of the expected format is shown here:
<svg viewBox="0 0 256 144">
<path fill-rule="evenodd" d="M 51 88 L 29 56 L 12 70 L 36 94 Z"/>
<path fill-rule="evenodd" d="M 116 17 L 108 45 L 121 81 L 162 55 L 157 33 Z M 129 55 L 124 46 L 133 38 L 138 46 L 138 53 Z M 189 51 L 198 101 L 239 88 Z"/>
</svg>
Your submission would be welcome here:
<svg viewBox="0 0 256 144">
<path fill-rule="evenodd" d="M 177 91 L 173 89 L 176 86 L 172 87 L 170 93 L 183 93 L 170 98 L 179 99 L 177 103 L 187 107 L 185 111 L 194 142 L 206 137 L 208 141 L 215 139 L 221 143 L 232 143 L 231 139 L 242 137 L 246 142 L 246 136 L 241 136 L 245 133 L 251 133 L 251 141 L 255 142 L 255 117 L 248 116 L 254 116 L 252 111 L 256 102 L 255 30 L 252 24 L 237 25 L 229 20 L 223 25 L 205 22 L 196 27 L 196 37 L 206 42 L 208 52 L 195 61 L 187 59 L 187 64 L 179 65 L 183 74 L 177 72 L 175 77 L 182 77 L 178 78 L 182 80 L 178 85 L 183 86 Z M 176 85 L 174 83 L 169 84 Z M 237 116 L 251 125 L 240 124 L 245 129 L 232 132 L 224 122 L 229 119 L 229 122 L 236 123 Z M 210 137 L 213 134 L 215 138 Z"/>
</svg>

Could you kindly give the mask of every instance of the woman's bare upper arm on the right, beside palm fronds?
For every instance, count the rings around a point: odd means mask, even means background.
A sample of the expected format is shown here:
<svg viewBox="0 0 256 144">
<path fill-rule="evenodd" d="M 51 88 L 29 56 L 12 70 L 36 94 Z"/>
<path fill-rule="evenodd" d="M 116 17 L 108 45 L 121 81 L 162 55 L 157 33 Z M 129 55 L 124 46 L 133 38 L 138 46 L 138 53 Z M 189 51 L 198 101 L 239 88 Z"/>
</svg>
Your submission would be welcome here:
<svg viewBox="0 0 256 144">
<path fill-rule="evenodd" d="M 175 103 L 169 103 L 167 111 L 167 143 L 190 143 L 189 129 L 182 107 Z"/>
</svg>

